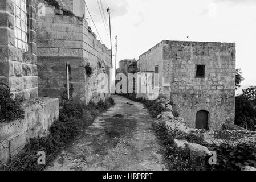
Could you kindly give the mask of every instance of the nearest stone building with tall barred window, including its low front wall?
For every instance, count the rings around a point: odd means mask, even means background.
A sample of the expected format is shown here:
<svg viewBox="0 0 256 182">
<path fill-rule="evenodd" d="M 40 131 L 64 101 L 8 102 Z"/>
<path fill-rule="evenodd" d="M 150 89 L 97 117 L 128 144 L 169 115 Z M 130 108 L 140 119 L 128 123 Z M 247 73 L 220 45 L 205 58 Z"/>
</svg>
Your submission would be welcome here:
<svg viewBox="0 0 256 182">
<path fill-rule="evenodd" d="M 0 167 L 59 117 L 58 98 L 38 97 L 36 8 L 34 0 L 0 1 L 0 82 L 25 110 L 24 119 L 0 123 Z"/>
</svg>

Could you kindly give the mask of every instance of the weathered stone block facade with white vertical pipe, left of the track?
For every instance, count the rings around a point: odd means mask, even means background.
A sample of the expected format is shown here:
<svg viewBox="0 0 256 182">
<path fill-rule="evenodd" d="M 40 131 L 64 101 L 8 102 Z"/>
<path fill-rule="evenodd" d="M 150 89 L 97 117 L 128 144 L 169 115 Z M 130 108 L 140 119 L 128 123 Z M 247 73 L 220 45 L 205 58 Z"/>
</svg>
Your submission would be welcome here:
<svg viewBox="0 0 256 182">
<path fill-rule="evenodd" d="M 72 3 L 68 5 L 72 9 L 70 6 Z M 97 76 L 107 73 L 110 82 L 111 55 L 83 17 L 56 14 L 55 7 L 46 4 L 46 15 L 37 18 L 37 31 L 39 96 L 61 97 L 67 80 L 66 63 L 71 66 L 74 98 L 88 103 L 108 96 L 98 92 Z M 87 64 L 92 68 L 91 76 L 86 75 Z"/>
</svg>

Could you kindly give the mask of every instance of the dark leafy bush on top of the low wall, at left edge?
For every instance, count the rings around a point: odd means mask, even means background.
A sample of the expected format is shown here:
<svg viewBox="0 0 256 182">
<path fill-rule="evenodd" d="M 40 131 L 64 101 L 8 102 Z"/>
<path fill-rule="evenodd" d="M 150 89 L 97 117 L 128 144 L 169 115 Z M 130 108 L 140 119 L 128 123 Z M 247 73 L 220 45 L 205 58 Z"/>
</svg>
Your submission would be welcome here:
<svg viewBox="0 0 256 182">
<path fill-rule="evenodd" d="M 9 122 L 15 119 L 24 118 L 24 110 L 22 108 L 22 98 L 13 99 L 13 94 L 9 89 L 9 86 L 0 83 L 0 123 Z"/>
</svg>

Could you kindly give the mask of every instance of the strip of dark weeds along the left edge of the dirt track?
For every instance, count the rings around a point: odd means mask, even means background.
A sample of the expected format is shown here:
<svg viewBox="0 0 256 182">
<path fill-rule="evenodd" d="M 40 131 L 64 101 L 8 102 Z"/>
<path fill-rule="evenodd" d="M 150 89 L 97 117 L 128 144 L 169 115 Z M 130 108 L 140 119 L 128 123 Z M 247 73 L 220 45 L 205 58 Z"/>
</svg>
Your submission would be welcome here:
<svg viewBox="0 0 256 182">
<path fill-rule="evenodd" d="M 44 169 L 56 154 L 79 134 L 80 131 L 91 125 L 97 115 L 113 105 L 113 99 L 107 98 L 105 102 L 96 105 L 92 102 L 85 105 L 81 102 L 65 102 L 60 109 L 58 121 L 54 121 L 50 127 L 50 135 L 42 138 L 31 138 L 26 144 L 23 152 L 11 159 L 9 166 L 3 167 L 4 170 L 12 171 L 38 171 Z M 46 165 L 38 165 L 37 153 L 46 153 Z"/>
</svg>

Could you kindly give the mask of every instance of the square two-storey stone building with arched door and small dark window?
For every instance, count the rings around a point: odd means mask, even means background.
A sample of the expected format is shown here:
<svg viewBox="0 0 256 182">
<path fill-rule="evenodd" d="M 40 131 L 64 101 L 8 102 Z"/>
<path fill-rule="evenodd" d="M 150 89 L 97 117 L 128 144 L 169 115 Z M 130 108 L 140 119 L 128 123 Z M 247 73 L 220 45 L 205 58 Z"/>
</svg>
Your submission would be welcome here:
<svg viewBox="0 0 256 182">
<path fill-rule="evenodd" d="M 163 40 L 139 57 L 137 67 L 159 73 L 160 93 L 169 94 L 189 127 L 234 123 L 235 43 Z"/>
</svg>

